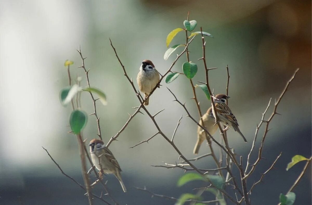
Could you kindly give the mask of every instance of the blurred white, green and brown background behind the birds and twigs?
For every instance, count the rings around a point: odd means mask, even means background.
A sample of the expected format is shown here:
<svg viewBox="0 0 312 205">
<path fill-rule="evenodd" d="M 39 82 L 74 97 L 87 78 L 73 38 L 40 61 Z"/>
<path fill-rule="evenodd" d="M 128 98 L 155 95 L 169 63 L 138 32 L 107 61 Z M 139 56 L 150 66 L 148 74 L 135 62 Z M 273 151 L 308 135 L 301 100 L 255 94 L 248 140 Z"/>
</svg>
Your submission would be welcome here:
<svg viewBox="0 0 312 205">
<path fill-rule="evenodd" d="M 103 139 L 107 142 L 128 120 L 139 102 L 110 47 L 111 38 L 128 75 L 134 80 L 144 59 L 154 62 L 160 73 L 168 70 L 175 55 L 163 59 L 167 50 L 165 40 L 170 31 L 183 28 L 190 12 L 190 20 L 197 20 L 194 31 L 209 32 L 206 37 L 207 64 L 218 67 L 209 72 L 210 85 L 215 93 L 225 93 L 226 66 L 229 66 L 229 105 L 236 115 L 248 144 L 233 130 L 228 131 L 229 143 L 246 164 L 256 124 L 261 112 L 278 98 L 286 81 L 300 68 L 289 90 L 282 99 L 270 124 L 263 157 L 248 180 L 250 188 L 261 173 L 268 169 L 277 155 L 282 156 L 276 168 L 264 178 L 264 183 L 253 190 L 253 204 L 277 204 L 279 194 L 286 193 L 300 174 L 304 162 L 285 171 L 295 154 L 311 156 L 311 1 L 9 1 L 1 0 L 0 7 L 0 204 L 87 204 L 85 193 L 61 174 L 51 161 L 46 148 L 65 173 L 83 183 L 76 137 L 69 134 L 71 107 L 59 102 L 59 91 L 68 85 L 66 59 L 74 61 L 71 75 L 85 74 L 81 68 L 78 49 L 90 68 L 91 86 L 102 89 L 108 105 L 98 102 L 97 112 Z M 178 33 L 170 44 L 184 43 L 185 35 Z M 198 65 L 194 82 L 205 81 L 200 37 L 189 47 L 190 60 Z M 182 72 L 182 56 L 173 71 Z M 137 86 L 137 84 L 135 83 Z M 168 86 L 198 118 L 191 85 L 185 76 L 162 87 L 151 96 L 151 113 L 165 109 L 156 119 L 165 134 L 171 136 L 181 115 L 183 119 L 175 136 L 182 153 L 193 158 L 197 140 L 197 126 L 185 117 L 186 113 Z M 204 93 L 197 96 L 204 113 L 210 106 Z M 82 93 L 82 107 L 92 113 L 93 105 L 88 93 Z M 266 118 L 271 115 L 272 107 Z M 84 129 L 87 142 L 96 138 L 95 117 L 90 116 Z M 133 149 L 130 146 L 156 133 L 147 115 L 138 114 L 110 145 L 121 168 L 128 189 L 123 193 L 117 179 L 108 176 L 108 187 L 120 204 L 173 204 L 163 198 L 151 198 L 149 193 L 134 187 L 147 187 L 153 193 L 178 198 L 182 193 L 196 193 L 193 188 L 205 184 L 196 182 L 182 188 L 176 182 L 183 175 L 179 168 L 151 167 L 163 162 L 178 162 L 178 154 L 160 135 Z M 259 148 L 263 129 L 256 143 Z M 214 135 L 219 139 L 219 134 Z M 218 149 L 214 146 L 216 153 Z M 199 154 L 210 152 L 205 143 Z M 256 160 L 253 154 L 251 163 Z M 216 168 L 212 158 L 196 161 L 199 168 Z M 238 172 L 234 171 L 238 176 Z M 91 177 L 91 180 L 95 178 Z M 100 185 L 94 188 L 100 195 Z M 295 204 L 311 204 L 311 168 L 295 188 Z M 233 192 L 232 192 L 233 193 Z M 212 200 L 210 193 L 205 199 Z M 233 197 L 235 197 L 233 195 Z M 109 200 L 107 196 L 105 199 Z M 102 202 L 95 199 L 95 204 Z"/>
</svg>

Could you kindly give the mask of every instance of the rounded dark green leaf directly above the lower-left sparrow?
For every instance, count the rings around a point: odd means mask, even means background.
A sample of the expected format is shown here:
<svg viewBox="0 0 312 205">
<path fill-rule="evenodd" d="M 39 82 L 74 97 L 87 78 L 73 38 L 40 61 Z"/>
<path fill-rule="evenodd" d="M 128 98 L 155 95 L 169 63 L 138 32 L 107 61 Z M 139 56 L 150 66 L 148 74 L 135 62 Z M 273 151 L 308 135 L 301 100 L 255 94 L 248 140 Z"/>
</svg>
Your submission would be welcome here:
<svg viewBox="0 0 312 205">
<path fill-rule="evenodd" d="M 71 131 L 73 131 L 74 134 L 79 134 L 87 124 L 86 113 L 80 110 L 72 111 L 69 124 L 71 125 Z"/>
</svg>

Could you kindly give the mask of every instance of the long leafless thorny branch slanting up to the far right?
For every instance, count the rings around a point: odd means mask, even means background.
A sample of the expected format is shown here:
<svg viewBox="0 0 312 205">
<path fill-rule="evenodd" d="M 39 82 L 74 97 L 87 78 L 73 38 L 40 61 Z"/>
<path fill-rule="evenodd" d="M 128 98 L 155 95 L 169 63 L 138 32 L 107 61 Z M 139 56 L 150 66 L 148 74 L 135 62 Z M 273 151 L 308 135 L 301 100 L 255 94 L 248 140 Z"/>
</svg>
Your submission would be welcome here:
<svg viewBox="0 0 312 205">
<path fill-rule="evenodd" d="M 276 112 L 277 106 L 279 105 L 280 100 L 283 98 L 283 96 L 284 96 L 284 94 L 285 94 L 285 92 L 286 92 L 288 86 L 290 85 L 290 82 L 295 78 L 296 73 L 298 72 L 298 70 L 299 70 L 299 68 L 297 68 L 297 69 L 295 70 L 295 73 L 291 76 L 290 80 L 287 81 L 284 90 L 282 91 L 282 93 L 280 94 L 280 97 L 278 98 L 278 100 L 277 100 L 277 101 L 275 102 L 275 104 L 274 104 L 274 110 L 273 110 L 273 112 L 272 112 L 270 118 L 266 121 L 266 128 L 265 128 L 265 132 L 264 132 L 264 134 L 263 134 L 262 140 L 261 140 L 261 144 L 260 144 L 260 148 L 259 148 L 259 154 L 258 154 L 258 159 L 257 159 L 256 162 L 253 164 L 253 166 L 252 166 L 250 172 L 249 172 L 248 174 L 245 175 L 244 179 L 247 179 L 247 178 L 255 171 L 255 168 L 256 168 L 257 164 L 260 162 L 260 160 L 261 160 L 261 158 L 262 158 L 261 154 L 262 154 L 263 144 L 264 144 L 264 140 L 266 139 L 266 134 L 267 134 L 268 131 L 269 131 L 269 124 L 270 124 L 271 120 L 273 119 L 274 115 L 275 115 L 275 114 L 278 114 L 278 113 Z"/>
</svg>

